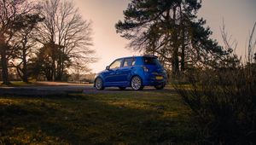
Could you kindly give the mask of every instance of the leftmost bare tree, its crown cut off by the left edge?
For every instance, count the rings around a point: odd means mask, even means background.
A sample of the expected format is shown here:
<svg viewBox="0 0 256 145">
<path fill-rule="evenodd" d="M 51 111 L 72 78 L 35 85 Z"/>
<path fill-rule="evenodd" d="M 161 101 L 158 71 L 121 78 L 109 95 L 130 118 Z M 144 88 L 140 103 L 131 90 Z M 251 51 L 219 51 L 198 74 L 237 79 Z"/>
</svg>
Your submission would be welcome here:
<svg viewBox="0 0 256 145">
<path fill-rule="evenodd" d="M 29 14 L 32 5 L 27 0 L 0 0 L 0 55 L 3 84 L 9 84 L 9 59 L 18 46 L 15 36 L 20 31 L 22 17 Z"/>
</svg>

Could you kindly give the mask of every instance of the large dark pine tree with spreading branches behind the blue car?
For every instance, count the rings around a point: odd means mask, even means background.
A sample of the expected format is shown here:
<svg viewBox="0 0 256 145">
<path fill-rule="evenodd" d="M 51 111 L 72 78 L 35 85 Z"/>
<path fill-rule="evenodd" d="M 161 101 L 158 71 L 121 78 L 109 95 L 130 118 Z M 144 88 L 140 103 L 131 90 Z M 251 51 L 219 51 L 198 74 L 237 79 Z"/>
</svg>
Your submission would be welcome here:
<svg viewBox="0 0 256 145">
<path fill-rule="evenodd" d="M 209 65 L 226 54 L 206 20 L 197 19 L 200 8 L 201 0 L 132 0 L 116 29 L 132 49 L 160 56 L 176 75 L 189 63 Z"/>
</svg>

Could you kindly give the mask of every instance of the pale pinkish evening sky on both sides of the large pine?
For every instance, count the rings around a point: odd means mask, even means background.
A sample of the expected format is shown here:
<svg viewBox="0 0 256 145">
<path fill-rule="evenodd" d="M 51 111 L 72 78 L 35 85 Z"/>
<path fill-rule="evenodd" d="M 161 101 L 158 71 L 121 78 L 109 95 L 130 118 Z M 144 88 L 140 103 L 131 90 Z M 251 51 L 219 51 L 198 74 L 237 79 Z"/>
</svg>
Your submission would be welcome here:
<svg viewBox="0 0 256 145">
<path fill-rule="evenodd" d="M 102 71 L 119 57 L 138 55 L 127 49 L 129 43 L 115 30 L 115 23 L 123 20 L 123 11 L 130 0 L 73 0 L 84 20 L 92 21 L 93 47 L 96 50 L 96 63 L 90 64 L 92 73 Z M 236 54 L 246 55 L 249 33 L 256 21 L 256 0 L 204 0 L 198 18 L 207 20 L 212 38 L 222 43 L 220 26 L 223 20 L 227 32 L 237 41 Z"/>
</svg>

